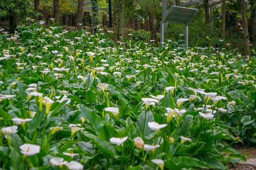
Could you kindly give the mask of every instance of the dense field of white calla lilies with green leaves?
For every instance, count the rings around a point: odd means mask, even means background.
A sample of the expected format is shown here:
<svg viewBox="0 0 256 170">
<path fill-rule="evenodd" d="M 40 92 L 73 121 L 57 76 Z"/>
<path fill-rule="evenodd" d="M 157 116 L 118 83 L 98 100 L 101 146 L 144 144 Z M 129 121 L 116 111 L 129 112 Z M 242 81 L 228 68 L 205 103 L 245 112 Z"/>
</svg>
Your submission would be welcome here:
<svg viewBox="0 0 256 170">
<path fill-rule="evenodd" d="M 17 30 L 0 34 L 1 169 L 225 170 L 256 143 L 255 56 Z"/>
</svg>

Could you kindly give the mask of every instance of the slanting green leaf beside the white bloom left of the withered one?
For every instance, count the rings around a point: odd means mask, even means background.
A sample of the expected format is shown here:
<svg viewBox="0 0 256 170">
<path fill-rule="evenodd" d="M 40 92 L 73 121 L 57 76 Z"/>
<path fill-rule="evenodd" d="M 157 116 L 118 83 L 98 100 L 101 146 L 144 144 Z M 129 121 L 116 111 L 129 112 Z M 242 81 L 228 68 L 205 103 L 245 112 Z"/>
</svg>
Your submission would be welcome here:
<svg viewBox="0 0 256 170">
<path fill-rule="evenodd" d="M 116 150 L 112 144 L 102 139 L 99 139 L 97 136 L 93 134 L 85 134 L 87 138 L 89 138 L 103 153 L 113 155 Z"/>
</svg>

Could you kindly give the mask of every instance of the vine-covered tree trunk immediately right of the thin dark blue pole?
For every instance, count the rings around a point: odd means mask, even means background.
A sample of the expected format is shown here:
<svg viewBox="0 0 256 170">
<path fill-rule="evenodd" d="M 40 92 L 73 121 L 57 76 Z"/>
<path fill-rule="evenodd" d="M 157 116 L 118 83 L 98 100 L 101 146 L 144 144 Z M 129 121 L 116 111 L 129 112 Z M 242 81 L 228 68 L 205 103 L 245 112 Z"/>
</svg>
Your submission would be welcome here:
<svg viewBox="0 0 256 170">
<path fill-rule="evenodd" d="M 112 40 L 113 42 L 117 42 L 118 36 L 119 36 L 119 23 L 118 23 L 118 11 L 119 11 L 119 5 L 120 1 L 119 0 L 114 0 L 113 2 L 113 36 Z"/>
</svg>

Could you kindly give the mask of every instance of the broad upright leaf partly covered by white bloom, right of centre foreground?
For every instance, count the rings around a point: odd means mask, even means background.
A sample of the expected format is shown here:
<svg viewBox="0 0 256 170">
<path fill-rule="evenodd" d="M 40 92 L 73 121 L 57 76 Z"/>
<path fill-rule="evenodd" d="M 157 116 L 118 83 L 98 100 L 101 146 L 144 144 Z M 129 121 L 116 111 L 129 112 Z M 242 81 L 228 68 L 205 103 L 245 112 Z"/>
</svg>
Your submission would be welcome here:
<svg viewBox="0 0 256 170">
<path fill-rule="evenodd" d="M 151 139 L 156 132 L 148 127 L 148 122 L 154 122 L 154 116 L 151 111 L 143 111 L 138 116 L 136 126 L 143 137 Z"/>
</svg>

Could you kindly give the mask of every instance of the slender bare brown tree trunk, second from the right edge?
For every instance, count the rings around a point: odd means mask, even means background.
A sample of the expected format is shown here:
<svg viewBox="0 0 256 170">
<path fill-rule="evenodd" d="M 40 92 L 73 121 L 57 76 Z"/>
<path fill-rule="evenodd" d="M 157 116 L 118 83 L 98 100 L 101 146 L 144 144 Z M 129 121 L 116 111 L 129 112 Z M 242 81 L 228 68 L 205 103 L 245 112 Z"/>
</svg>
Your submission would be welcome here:
<svg viewBox="0 0 256 170">
<path fill-rule="evenodd" d="M 243 28 L 244 28 L 244 56 L 249 56 L 250 46 L 249 46 L 249 33 L 248 33 L 248 26 L 247 26 L 245 0 L 241 0 L 241 14 L 242 14 L 242 22 L 243 22 Z"/>
</svg>

